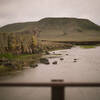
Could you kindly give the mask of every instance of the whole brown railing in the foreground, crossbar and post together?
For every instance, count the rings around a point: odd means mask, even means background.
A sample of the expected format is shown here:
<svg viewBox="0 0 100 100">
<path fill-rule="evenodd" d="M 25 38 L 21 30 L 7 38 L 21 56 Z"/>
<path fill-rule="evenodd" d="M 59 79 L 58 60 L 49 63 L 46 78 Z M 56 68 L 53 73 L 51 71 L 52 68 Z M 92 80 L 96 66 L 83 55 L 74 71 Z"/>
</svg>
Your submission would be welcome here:
<svg viewBox="0 0 100 100">
<path fill-rule="evenodd" d="M 65 83 L 55 80 L 46 83 L 0 83 L 0 87 L 51 87 L 51 100 L 64 100 L 65 87 L 100 87 L 100 83 Z"/>
</svg>

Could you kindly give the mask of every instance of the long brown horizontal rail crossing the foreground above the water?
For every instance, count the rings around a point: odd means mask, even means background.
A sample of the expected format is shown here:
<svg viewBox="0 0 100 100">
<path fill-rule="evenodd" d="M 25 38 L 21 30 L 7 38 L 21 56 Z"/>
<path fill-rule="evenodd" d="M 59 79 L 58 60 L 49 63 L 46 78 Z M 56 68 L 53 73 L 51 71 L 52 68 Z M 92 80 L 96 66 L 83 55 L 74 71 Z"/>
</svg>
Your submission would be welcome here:
<svg viewBox="0 0 100 100">
<path fill-rule="evenodd" d="M 45 83 L 0 83 L 0 87 L 100 87 L 100 83 L 71 83 L 71 82 L 45 82 Z"/>
</svg>

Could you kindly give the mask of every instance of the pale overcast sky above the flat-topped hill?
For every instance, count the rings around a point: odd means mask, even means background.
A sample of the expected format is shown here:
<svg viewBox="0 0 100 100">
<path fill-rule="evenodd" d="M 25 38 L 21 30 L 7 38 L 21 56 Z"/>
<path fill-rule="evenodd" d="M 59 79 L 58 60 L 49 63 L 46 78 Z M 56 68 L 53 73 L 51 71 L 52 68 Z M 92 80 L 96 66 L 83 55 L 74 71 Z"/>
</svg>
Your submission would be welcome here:
<svg viewBox="0 0 100 100">
<path fill-rule="evenodd" d="M 44 17 L 88 18 L 100 25 L 100 0 L 0 0 L 0 26 Z"/>
</svg>

